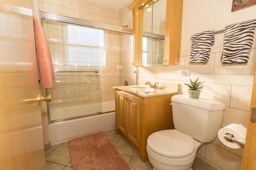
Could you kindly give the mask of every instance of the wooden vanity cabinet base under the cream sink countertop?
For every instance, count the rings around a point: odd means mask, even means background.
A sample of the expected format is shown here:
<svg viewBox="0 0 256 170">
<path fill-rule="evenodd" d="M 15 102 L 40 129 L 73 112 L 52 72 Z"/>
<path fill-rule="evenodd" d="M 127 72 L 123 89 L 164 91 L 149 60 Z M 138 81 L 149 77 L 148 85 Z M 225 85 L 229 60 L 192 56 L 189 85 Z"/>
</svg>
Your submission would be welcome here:
<svg viewBox="0 0 256 170">
<path fill-rule="evenodd" d="M 115 92 L 116 133 L 121 133 L 140 152 L 142 162 L 146 162 L 149 135 L 160 130 L 174 129 L 170 99 L 177 93 L 143 98 L 119 89 Z"/>
</svg>

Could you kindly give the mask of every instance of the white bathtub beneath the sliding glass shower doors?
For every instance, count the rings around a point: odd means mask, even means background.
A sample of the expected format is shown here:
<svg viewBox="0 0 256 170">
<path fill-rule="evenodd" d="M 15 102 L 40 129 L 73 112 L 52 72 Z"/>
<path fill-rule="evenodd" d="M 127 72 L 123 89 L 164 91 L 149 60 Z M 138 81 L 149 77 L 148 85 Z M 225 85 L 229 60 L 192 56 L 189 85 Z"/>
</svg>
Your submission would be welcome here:
<svg viewBox="0 0 256 170">
<path fill-rule="evenodd" d="M 83 108 L 84 107 L 84 108 Z M 79 106 L 79 109 L 93 108 L 94 106 Z M 78 111 L 74 106 L 62 108 L 62 113 Z M 49 137 L 51 145 L 64 143 L 76 137 L 89 135 L 100 131 L 108 131 L 115 128 L 115 101 L 102 102 L 102 114 L 91 115 L 77 119 L 71 119 L 49 124 Z M 110 112 L 109 112 L 110 111 Z M 112 111 L 112 112 L 111 112 Z M 104 113 L 108 112 L 108 113 Z"/>
</svg>

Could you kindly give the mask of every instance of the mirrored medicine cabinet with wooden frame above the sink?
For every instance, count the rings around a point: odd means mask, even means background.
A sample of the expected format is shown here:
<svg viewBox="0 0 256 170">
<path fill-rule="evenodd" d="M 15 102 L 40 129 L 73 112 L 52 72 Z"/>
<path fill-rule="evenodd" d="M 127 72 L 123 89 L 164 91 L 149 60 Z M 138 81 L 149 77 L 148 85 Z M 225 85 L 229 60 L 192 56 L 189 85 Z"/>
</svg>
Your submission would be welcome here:
<svg viewBox="0 0 256 170">
<path fill-rule="evenodd" d="M 133 65 L 179 64 L 183 0 L 134 0 L 128 8 L 133 10 Z M 159 23 L 155 30 L 156 18 L 163 9 L 168 9 L 166 20 L 159 20 L 162 25 Z"/>
</svg>

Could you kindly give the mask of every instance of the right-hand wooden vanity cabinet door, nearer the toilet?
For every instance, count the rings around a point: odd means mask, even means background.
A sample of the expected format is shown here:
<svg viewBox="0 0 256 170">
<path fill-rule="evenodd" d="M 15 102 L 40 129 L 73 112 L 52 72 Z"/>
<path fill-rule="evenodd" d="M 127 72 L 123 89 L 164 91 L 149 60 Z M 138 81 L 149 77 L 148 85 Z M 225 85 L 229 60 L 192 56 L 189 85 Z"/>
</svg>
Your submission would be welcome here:
<svg viewBox="0 0 256 170">
<path fill-rule="evenodd" d="M 140 98 L 127 95 L 127 137 L 140 148 Z"/>
</svg>

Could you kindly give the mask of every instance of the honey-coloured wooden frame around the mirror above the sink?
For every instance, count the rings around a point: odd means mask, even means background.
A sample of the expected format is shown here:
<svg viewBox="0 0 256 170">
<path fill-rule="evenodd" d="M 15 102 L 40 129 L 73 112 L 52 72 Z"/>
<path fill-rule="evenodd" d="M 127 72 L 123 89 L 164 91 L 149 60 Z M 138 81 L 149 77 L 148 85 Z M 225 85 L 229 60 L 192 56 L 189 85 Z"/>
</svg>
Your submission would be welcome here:
<svg viewBox="0 0 256 170">
<path fill-rule="evenodd" d="M 127 8 L 133 15 L 133 66 L 143 66 L 142 37 L 144 5 L 152 0 L 134 0 Z M 144 5 L 142 5 L 144 4 Z M 166 0 L 166 30 L 164 61 L 166 65 L 180 64 L 183 0 Z"/>
</svg>

